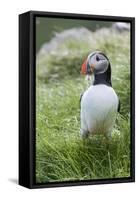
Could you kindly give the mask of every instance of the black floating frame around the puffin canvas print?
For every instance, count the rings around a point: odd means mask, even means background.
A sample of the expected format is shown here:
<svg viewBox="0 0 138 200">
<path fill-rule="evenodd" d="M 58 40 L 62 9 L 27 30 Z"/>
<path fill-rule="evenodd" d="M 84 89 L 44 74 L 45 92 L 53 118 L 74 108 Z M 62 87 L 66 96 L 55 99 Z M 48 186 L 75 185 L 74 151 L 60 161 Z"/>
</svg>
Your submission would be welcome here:
<svg viewBox="0 0 138 200">
<path fill-rule="evenodd" d="M 68 181 L 38 184 L 35 181 L 35 18 L 87 19 L 129 22 L 131 24 L 131 176 L 127 178 Z M 135 18 L 29 11 L 19 15 L 19 184 L 45 188 L 135 181 Z"/>
</svg>

